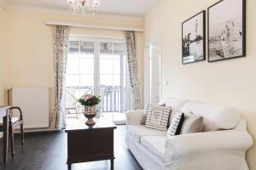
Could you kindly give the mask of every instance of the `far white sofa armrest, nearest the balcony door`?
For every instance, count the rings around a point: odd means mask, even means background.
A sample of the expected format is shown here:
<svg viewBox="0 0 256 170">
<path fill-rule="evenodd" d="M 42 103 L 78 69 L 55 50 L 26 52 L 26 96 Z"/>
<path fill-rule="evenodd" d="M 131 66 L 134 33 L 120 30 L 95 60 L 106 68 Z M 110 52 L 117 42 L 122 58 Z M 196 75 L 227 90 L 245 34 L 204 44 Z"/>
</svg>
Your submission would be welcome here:
<svg viewBox="0 0 256 170">
<path fill-rule="evenodd" d="M 143 124 L 144 120 L 144 110 L 126 111 L 126 125 Z"/>
</svg>

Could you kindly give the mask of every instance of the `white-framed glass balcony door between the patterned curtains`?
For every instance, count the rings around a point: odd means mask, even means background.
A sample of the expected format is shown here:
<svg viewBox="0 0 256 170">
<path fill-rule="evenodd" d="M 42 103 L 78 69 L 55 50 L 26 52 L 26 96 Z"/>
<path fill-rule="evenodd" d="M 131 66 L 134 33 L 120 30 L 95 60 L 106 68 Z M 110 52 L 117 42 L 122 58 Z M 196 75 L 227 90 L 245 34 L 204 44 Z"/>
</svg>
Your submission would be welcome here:
<svg viewBox="0 0 256 170">
<path fill-rule="evenodd" d="M 84 119 L 83 107 L 77 103 L 84 94 L 102 97 L 102 116 L 116 124 L 125 123 L 130 109 L 123 39 L 70 37 L 66 72 L 67 121 Z"/>
</svg>

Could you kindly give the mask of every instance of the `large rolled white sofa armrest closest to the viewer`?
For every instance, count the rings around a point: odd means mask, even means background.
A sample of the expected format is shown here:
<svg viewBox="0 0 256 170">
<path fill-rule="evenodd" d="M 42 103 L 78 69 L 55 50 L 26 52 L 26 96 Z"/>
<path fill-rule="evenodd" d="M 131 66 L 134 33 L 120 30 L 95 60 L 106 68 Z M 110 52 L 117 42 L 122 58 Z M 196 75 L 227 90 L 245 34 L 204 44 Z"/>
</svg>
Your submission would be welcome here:
<svg viewBox="0 0 256 170">
<path fill-rule="evenodd" d="M 253 145 L 247 131 L 224 130 L 207 133 L 191 133 L 169 137 L 166 140 L 167 160 L 181 156 L 194 156 L 222 150 L 246 151 Z"/>
</svg>

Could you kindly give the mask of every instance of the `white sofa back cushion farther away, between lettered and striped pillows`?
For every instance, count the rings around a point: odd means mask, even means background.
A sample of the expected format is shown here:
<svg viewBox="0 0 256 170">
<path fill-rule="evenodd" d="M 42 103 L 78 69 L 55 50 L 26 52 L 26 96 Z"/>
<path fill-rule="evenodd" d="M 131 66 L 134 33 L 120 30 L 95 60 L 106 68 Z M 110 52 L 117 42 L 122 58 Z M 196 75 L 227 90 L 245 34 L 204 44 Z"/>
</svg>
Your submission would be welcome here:
<svg viewBox="0 0 256 170">
<path fill-rule="evenodd" d="M 170 118 L 170 123 L 172 122 L 172 116 L 174 116 L 177 111 L 179 111 L 183 105 L 187 103 L 184 99 L 175 99 L 172 97 L 166 97 L 160 100 L 159 105 L 166 104 L 166 106 L 172 107 L 172 114 Z"/>
</svg>

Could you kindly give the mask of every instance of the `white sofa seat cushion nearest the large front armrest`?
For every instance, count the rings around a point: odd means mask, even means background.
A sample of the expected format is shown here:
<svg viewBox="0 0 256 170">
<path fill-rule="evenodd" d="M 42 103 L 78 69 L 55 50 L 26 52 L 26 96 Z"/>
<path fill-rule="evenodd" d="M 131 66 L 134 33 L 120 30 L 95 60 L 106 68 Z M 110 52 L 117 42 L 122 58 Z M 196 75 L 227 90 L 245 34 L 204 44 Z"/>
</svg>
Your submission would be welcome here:
<svg viewBox="0 0 256 170">
<path fill-rule="evenodd" d="M 153 152 L 156 156 L 164 158 L 166 139 L 166 136 L 144 136 L 141 140 L 144 147 Z"/>
</svg>

